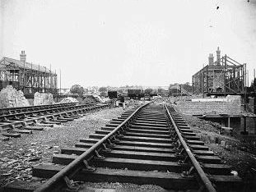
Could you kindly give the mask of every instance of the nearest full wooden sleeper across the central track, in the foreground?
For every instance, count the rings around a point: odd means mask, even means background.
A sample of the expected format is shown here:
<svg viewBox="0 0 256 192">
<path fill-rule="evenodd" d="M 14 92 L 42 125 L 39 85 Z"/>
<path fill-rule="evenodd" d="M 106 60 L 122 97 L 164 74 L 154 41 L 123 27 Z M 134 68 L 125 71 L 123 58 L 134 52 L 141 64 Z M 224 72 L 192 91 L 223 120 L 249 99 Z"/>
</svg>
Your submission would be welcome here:
<svg viewBox="0 0 256 192">
<path fill-rule="evenodd" d="M 54 176 L 63 166 L 40 165 L 33 169 L 33 176 L 49 178 Z M 216 184 L 218 191 L 241 190 L 243 186 L 239 176 L 219 176 L 210 175 L 210 180 Z M 74 181 L 91 181 L 91 182 L 120 182 L 134 183 L 137 185 L 159 185 L 169 190 L 197 190 L 198 181 L 192 177 L 184 177 L 175 172 L 159 171 L 133 171 L 109 168 L 97 168 L 94 172 L 80 171 Z"/>
</svg>

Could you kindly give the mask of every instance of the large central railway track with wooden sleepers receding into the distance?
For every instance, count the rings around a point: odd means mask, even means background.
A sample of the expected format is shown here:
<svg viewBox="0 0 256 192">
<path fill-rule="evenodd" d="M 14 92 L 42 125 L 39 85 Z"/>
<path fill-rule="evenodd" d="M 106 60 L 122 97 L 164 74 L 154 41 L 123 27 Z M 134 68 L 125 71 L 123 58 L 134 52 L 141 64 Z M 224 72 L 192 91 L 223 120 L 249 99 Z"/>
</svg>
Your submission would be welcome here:
<svg viewBox="0 0 256 192">
<path fill-rule="evenodd" d="M 242 187 L 240 177 L 230 174 L 231 167 L 200 141 L 173 107 L 154 103 L 124 112 L 89 139 L 63 148 L 53 163 L 33 168 L 33 176 L 48 179 L 33 190 L 79 190 L 70 180 L 151 184 L 179 191 Z"/>
</svg>

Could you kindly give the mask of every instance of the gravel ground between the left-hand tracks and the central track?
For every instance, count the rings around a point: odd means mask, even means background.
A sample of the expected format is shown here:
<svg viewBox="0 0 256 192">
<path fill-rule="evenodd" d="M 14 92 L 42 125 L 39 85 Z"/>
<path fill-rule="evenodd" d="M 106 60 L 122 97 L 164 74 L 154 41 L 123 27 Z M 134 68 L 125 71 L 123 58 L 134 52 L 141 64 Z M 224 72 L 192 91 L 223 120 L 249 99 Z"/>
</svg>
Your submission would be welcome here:
<svg viewBox="0 0 256 192">
<path fill-rule="evenodd" d="M 60 147 L 72 147 L 80 138 L 88 138 L 95 130 L 123 113 L 122 107 L 100 109 L 87 113 L 75 121 L 60 126 L 44 127 L 31 135 L 0 142 L 0 186 L 12 181 L 37 181 L 32 177 L 32 167 L 51 162 L 53 153 Z"/>
</svg>

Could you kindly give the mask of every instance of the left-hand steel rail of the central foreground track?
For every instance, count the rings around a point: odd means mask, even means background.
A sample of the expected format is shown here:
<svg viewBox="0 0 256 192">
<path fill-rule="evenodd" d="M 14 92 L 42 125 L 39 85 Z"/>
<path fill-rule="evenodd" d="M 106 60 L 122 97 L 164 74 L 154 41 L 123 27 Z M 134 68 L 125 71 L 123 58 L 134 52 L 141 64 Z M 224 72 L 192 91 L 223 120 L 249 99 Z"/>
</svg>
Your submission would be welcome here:
<svg viewBox="0 0 256 192">
<path fill-rule="evenodd" d="M 151 101 L 149 103 L 152 103 L 154 101 Z M 112 130 L 108 135 L 105 135 L 104 138 L 100 139 L 96 144 L 92 145 L 90 149 L 86 150 L 86 152 L 82 153 L 80 156 L 78 156 L 75 160 L 70 162 L 67 167 L 64 167 L 61 171 L 59 171 L 57 174 L 55 174 L 53 177 L 51 177 L 48 181 L 46 181 L 43 185 L 41 185 L 38 189 L 35 190 L 35 192 L 48 192 L 53 191 L 54 187 L 58 185 L 61 181 L 63 181 L 64 176 L 68 176 L 70 174 L 74 175 L 74 172 L 79 171 L 82 166 L 79 167 L 79 165 L 83 162 L 83 160 L 91 158 L 93 156 L 93 153 L 97 149 L 100 149 L 100 146 L 107 142 L 108 139 L 111 139 L 111 137 L 114 136 L 114 134 L 123 126 L 127 125 L 129 121 L 133 119 L 137 115 L 137 112 L 139 112 L 142 107 L 146 107 L 149 103 L 146 103 L 136 109 L 135 112 L 133 112 L 126 120 L 124 120 L 119 126 L 117 126 L 114 130 Z"/>
</svg>

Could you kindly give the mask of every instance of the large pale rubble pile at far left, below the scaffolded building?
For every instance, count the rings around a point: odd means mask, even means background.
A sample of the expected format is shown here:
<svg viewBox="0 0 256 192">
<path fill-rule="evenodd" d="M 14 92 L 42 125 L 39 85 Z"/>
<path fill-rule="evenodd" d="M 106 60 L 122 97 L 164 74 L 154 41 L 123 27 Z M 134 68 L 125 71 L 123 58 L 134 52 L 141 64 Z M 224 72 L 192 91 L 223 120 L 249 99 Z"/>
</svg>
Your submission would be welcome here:
<svg viewBox="0 0 256 192">
<path fill-rule="evenodd" d="M 30 103 L 26 100 L 21 90 L 17 91 L 12 85 L 7 85 L 7 88 L 1 90 L 0 108 L 26 106 L 30 106 Z"/>
</svg>

